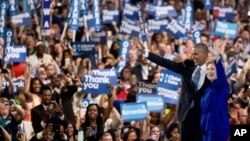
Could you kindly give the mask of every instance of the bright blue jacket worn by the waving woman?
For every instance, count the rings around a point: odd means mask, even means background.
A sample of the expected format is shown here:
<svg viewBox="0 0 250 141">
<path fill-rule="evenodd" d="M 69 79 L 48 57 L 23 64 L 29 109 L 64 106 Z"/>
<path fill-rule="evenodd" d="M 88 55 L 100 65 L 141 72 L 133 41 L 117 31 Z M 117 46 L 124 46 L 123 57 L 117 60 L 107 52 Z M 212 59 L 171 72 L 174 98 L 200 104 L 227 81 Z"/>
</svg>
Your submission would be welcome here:
<svg viewBox="0 0 250 141">
<path fill-rule="evenodd" d="M 221 60 L 216 63 L 217 79 L 205 89 L 201 98 L 201 130 L 228 130 L 229 86 Z"/>
</svg>

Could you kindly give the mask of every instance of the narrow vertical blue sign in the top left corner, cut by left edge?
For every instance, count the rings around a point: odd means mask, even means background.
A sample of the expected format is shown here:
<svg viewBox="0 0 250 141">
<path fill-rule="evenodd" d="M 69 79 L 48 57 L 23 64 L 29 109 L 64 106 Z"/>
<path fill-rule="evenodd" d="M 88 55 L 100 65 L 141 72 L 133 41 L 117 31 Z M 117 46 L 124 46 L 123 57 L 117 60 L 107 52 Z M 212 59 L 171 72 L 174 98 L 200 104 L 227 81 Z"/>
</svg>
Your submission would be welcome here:
<svg viewBox="0 0 250 141">
<path fill-rule="evenodd" d="M 7 2 L 0 2 L 0 37 L 4 37 L 5 20 L 7 15 Z"/>
</svg>

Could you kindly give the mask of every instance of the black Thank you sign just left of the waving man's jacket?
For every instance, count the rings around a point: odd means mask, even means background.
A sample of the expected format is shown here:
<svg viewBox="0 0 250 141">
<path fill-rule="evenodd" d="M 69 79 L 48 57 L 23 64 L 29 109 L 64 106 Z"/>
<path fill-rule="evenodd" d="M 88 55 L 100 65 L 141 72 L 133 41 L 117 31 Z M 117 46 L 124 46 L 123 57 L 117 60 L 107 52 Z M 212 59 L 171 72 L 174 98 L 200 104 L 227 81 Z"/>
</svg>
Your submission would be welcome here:
<svg viewBox="0 0 250 141">
<path fill-rule="evenodd" d="M 144 81 L 138 81 L 137 93 L 138 94 L 155 94 L 157 85 Z"/>
</svg>

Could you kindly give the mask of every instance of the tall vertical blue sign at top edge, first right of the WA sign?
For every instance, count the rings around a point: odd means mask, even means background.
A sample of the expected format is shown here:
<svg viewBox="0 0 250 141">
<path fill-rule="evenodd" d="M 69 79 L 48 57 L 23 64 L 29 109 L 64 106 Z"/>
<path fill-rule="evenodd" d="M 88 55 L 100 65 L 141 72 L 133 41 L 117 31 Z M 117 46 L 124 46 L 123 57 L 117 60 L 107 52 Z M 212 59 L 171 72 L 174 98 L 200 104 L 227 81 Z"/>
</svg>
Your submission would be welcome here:
<svg viewBox="0 0 250 141">
<path fill-rule="evenodd" d="M 78 0 L 71 1 L 71 10 L 69 12 L 69 27 L 72 30 L 78 29 L 79 17 L 80 17 L 80 3 Z"/>
</svg>

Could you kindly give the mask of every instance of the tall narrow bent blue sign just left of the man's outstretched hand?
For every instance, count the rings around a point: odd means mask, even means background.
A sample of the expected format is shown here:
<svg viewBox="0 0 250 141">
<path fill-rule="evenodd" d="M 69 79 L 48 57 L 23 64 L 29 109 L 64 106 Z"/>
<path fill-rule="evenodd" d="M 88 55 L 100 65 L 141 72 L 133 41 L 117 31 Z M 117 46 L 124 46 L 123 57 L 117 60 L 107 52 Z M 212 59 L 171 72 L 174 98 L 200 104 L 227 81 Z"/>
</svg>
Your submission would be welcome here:
<svg viewBox="0 0 250 141">
<path fill-rule="evenodd" d="M 126 65 L 128 60 L 128 51 L 130 49 L 130 41 L 129 40 L 122 40 L 119 50 L 119 56 L 123 58 L 123 61 L 120 61 L 116 67 L 117 75 L 119 76 L 123 67 Z"/>
</svg>

